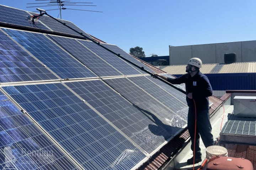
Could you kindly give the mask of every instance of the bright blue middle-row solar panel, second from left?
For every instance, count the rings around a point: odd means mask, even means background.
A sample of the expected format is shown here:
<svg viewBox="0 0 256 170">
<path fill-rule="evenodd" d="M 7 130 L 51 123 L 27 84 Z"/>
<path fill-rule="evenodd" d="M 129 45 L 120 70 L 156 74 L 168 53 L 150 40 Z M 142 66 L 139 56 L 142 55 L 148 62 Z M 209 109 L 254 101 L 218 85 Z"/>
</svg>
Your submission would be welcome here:
<svg viewBox="0 0 256 170">
<path fill-rule="evenodd" d="M 97 77 L 43 34 L 4 31 L 62 79 Z"/>
</svg>

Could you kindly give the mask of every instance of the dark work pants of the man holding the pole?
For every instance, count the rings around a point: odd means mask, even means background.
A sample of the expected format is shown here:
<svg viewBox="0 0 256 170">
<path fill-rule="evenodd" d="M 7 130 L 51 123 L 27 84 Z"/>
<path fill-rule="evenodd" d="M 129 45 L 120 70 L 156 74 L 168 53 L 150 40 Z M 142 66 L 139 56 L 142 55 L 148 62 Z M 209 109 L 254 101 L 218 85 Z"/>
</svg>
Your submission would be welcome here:
<svg viewBox="0 0 256 170">
<path fill-rule="evenodd" d="M 199 134 L 202 138 L 204 146 L 213 145 L 212 126 L 210 124 L 209 110 L 196 111 L 197 112 L 197 127 L 196 127 L 196 145 L 195 158 L 201 157 L 201 149 L 199 147 Z M 188 109 L 188 132 L 191 137 L 191 150 L 194 151 L 194 133 L 195 133 L 195 109 Z"/>
</svg>

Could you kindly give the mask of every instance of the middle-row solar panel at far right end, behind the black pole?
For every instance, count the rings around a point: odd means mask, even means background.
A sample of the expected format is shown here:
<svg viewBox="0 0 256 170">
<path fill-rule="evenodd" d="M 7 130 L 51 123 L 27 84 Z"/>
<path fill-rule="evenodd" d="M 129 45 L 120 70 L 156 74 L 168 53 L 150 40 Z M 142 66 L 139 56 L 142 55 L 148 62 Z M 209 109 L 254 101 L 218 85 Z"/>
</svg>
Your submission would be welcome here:
<svg viewBox="0 0 256 170">
<path fill-rule="evenodd" d="M 143 67 L 145 70 L 149 71 L 150 73 L 155 73 L 153 70 L 151 70 L 150 68 L 145 66 L 143 63 L 141 63 L 138 60 L 136 60 L 134 57 L 129 55 L 127 52 L 125 52 L 122 49 L 120 49 L 118 46 L 112 45 L 112 44 L 104 44 L 104 43 L 101 43 L 101 45 L 107 47 L 108 49 L 114 51 L 117 54 L 120 54 L 122 57 L 126 58 L 127 60 L 137 64 L 137 66 Z M 142 70 L 140 70 L 140 71 L 142 71 Z"/>
</svg>

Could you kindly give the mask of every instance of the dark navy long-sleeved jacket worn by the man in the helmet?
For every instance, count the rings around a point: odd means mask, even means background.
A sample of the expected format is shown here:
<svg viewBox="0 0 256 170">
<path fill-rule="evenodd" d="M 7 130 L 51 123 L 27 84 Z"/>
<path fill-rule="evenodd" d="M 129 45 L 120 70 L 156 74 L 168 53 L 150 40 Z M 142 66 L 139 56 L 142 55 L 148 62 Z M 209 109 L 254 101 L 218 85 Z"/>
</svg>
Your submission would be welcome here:
<svg viewBox="0 0 256 170">
<path fill-rule="evenodd" d="M 193 99 L 196 103 L 197 110 L 207 110 L 209 109 L 208 97 L 212 96 L 212 86 L 206 75 L 198 72 L 196 75 L 191 77 L 190 74 L 183 74 L 178 78 L 168 78 L 168 82 L 171 84 L 186 84 L 186 93 L 192 92 Z M 192 99 L 186 97 L 188 107 L 194 108 L 194 102 Z"/>
</svg>

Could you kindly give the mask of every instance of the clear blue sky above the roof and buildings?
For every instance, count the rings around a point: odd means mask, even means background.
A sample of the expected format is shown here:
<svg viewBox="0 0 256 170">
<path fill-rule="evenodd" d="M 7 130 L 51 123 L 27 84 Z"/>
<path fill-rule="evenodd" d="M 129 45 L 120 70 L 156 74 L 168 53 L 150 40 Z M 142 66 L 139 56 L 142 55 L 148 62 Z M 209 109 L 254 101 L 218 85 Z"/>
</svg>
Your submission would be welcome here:
<svg viewBox="0 0 256 170">
<path fill-rule="evenodd" d="M 36 11 L 30 4 L 50 0 L 1 0 L 1 5 Z M 129 52 L 143 48 L 146 57 L 169 55 L 169 45 L 184 46 L 256 40 L 255 0 L 70 0 L 97 6 L 66 8 L 62 19 L 109 44 Z M 64 3 L 65 4 L 65 3 Z M 56 7 L 39 7 L 45 10 Z M 58 17 L 59 11 L 47 11 Z M 59 16 L 60 18 L 60 16 Z"/>
</svg>

